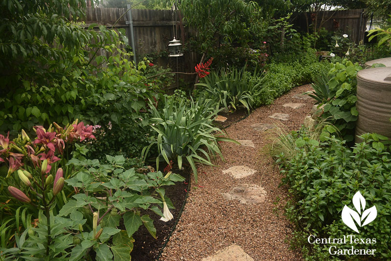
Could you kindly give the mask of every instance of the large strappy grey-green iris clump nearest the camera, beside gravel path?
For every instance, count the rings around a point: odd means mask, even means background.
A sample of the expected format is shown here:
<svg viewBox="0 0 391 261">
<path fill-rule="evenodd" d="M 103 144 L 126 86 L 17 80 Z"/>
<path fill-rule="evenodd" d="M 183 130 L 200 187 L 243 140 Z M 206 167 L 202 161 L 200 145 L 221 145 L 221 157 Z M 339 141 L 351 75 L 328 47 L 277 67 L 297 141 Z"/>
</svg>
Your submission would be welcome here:
<svg viewBox="0 0 391 261">
<path fill-rule="evenodd" d="M 174 98 L 165 99 L 165 107 L 159 112 L 151 106 L 152 123 L 151 128 L 158 134 L 156 141 L 146 146 L 141 155 L 147 159 L 148 152 L 152 145 L 157 144 L 159 155 L 156 158 L 157 168 L 159 161 L 164 160 L 170 163 L 174 160 L 178 167 L 182 167 L 182 162 L 187 161 L 192 167 L 195 181 L 197 181 L 196 163 L 213 165 L 212 156 L 223 155 L 218 146 L 218 141 L 231 141 L 226 137 L 216 135 L 224 134 L 219 128 L 212 126 L 212 121 L 216 118 L 218 106 L 214 107 L 212 100 L 198 100 L 190 103 L 190 107 L 183 106 L 181 101 L 176 106 Z M 201 154 L 199 156 L 198 154 Z"/>
</svg>

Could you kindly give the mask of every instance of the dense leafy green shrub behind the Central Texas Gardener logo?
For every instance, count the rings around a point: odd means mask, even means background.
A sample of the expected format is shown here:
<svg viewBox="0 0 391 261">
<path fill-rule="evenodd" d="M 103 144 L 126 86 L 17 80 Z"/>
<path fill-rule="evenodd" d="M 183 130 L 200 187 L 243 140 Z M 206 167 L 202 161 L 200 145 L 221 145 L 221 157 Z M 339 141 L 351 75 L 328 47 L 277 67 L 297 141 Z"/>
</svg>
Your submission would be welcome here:
<svg viewBox="0 0 391 261">
<path fill-rule="evenodd" d="M 341 211 L 344 205 L 351 204 L 357 191 L 378 212 L 377 218 L 355 235 L 375 238 L 377 242 L 357 248 L 376 249 L 375 258 L 379 260 L 391 258 L 391 156 L 387 148 L 379 145 L 385 137 L 364 134 L 362 138 L 363 142 L 350 149 L 334 136 L 323 136 L 322 142 L 312 140 L 302 129 L 294 135 L 294 156 L 287 158 L 282 153 L 277 157 L 285 176 L 283 183 L 290 186 L 289 193 L 294 198 L 287 206 L 287 216 L 300 229 L 295 240 L 306 253 L 305 260 L 345 260 L 343 256 L 331 256 L 329 245 L 309 245 L 306 238 L 343 238 L 351 234 L 341 219 Z"/>
</svg>

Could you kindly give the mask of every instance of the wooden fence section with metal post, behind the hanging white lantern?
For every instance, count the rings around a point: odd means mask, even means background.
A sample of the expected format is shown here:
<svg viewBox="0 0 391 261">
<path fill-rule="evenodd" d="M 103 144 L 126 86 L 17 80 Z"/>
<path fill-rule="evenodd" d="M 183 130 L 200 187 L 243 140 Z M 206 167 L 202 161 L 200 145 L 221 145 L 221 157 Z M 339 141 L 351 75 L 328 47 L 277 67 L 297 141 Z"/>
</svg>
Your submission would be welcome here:
<svg viewBox="0 0 391 261">
<path fill-rule="evenodd" d="M 112 26 L 123 28 L 126 30 L 130 43 L 130 27 L 127 24 L 129 18 L 126 11 L 126 8 L 87 8 L 87 17 L 83 20 L 86 27 L 92 23 L 97 23 L 108 28 Z M 124 15 L 124 13 L 126 14 Z M 176 21 L 171 10 L 132 9 L 131 15 L 137 61 L 147 54 L 154 54 L 158 57 L 154 60 L 156 64 L 170 66 L 176 71 L 176 58 L 168 57 L 168 44 L 174 38 L 174 31 L 177 36 L 176 39 L 181 40 L 182 44 L 184 44 L 182 37 L 188 34 L 187 29 L 181 31 L 183 26 L 180 26 L 178 15 Z M 191 72 L 194 71 L 195 64 L 199 62 L 199 57 L 195 53 L 187 51 L 184 56 L 177 60 L 179 71 Z"/>
</svg>

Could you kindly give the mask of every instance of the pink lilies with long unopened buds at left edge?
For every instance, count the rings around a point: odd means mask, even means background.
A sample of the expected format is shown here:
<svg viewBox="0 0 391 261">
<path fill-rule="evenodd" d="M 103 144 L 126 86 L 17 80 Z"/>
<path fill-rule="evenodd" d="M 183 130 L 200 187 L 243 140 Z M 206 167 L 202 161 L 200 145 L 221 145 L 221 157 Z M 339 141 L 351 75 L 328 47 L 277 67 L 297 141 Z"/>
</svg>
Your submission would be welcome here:
<svg viewBox="0 0 391 261">
<path fill-rule="evenodd" d="M 3 194 L 0 197 L 11 195 L 18 200 L 5 204 L 11 218 L 4 216 L 5 223 L 0 231 L 4 236 L 7 234 L 9 239 L 19 234 L 21 220 L 24 228 L 30 229 L 31 219 L 38 217 L 38 211 L 44 211 L 43 215 L 49 220 L 50 212 L 58 211 L 65 204 L 66 197 L 62 191 L 64 179 L 72 171 L 72 166 L 65 166 L 70 158 L 69 149 L 73 149 L 76 141 L 95 138 L 92 126 L 86 127 L 83 122 L 74 122 L 65 127 L 53 124 L 55 128 L 49 127 L 47 131 L 43 126 L 35 126 L 37 137 L 34 140 L 30 140 L 24 130 L 13 141 L 8 136 L 0 135 L 0 162 L 8 163 L 7 175 L 0 179 L 1 187 L 7 187 L 8 193 L 1 189 Z M 81 148 L 80 145 L 78 147 Z M 15 223 L 8 223 L 14 218 Z M 50 234 L 50 225 L 47 229 Z M 50 235 L 47 237 L 49 241 Z M 6 246 L 3 241 L 2 247 Z"/>
</svg>

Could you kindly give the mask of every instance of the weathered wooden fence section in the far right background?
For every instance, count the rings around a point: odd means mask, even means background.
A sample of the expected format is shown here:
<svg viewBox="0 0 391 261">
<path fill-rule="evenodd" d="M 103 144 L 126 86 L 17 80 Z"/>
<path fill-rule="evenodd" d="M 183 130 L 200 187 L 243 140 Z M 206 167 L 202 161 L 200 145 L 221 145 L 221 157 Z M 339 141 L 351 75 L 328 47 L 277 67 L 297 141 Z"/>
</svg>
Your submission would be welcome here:
<svg viewBox="0 0 391 261">
<path fill-rule="evenodd" d="M 308 26 L 325 27 L 327 31 L 340 31 L 342 34 L 347 34 L 349 40 L 359 44 L 364 39 L 368 17 L 364 13 L 364 9 L 338 10 L 319 12 L 316 20 L 314 12 L 306 12 L 297 14 L 297 19 L 294 21 L 295 26 L 301 31 L 307 31 Z M 311 28 L 309 28 L 311 31 Z"/>
</svg>

